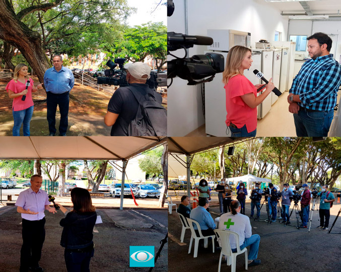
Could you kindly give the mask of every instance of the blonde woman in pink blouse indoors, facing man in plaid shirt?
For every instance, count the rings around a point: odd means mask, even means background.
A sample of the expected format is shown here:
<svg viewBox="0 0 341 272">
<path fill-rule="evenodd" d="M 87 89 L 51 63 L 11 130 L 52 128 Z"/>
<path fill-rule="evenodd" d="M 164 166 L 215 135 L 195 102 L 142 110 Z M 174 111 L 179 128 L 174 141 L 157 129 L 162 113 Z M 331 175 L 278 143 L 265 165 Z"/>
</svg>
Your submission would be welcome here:
<svg viewBox="0 0 341 272">
<path fill-rule="evenodd" d="M 252 63 L 251 49 L 244 46 L 231 48 L 226 58 L 223 83 L 226 90 L 226 125 L 231 137 L 255 137 L 257 127 L 256 107 L 271 93 L 275 85 L 270 79 L 265 91 L 257 96 L 257 88 L 245 76 L 244 70 Z"/>
</svg>

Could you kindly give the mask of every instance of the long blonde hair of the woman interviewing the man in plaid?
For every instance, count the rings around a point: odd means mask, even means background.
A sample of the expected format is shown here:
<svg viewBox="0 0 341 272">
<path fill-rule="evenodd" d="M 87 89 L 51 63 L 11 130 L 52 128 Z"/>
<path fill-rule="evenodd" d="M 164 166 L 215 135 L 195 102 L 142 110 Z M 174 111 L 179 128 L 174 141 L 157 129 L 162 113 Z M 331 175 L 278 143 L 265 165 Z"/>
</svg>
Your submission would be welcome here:
<svg viewBox="0 0 341 272">
<path fill-rule="evenodd" d="M 231 48 L 226 57 L 225 70 L 223 72 L 223 83 L 227 84 L 233 76 L 239 75 L 239 68 L 247 52 L 251 52 L 250 48 L 236 45 Z"/>
</svg>

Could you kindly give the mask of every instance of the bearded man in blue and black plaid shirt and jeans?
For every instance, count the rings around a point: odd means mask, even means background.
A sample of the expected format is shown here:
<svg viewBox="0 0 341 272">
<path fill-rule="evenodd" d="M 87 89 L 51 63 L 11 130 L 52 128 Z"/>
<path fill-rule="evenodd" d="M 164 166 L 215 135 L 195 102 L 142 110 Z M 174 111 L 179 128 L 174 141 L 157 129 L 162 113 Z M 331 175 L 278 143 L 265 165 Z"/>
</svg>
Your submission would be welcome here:
<svg viewBox="0 0 341 272">
<path fill-rule="evenodd" d="M 289 111 L 298 137 L 327 137 L 334 116 L 341 66 L 329 54 L 332 40 L 324 33 L 307 38 L 311 59 L 301 67 L 289 90 Z"/>
</svg>

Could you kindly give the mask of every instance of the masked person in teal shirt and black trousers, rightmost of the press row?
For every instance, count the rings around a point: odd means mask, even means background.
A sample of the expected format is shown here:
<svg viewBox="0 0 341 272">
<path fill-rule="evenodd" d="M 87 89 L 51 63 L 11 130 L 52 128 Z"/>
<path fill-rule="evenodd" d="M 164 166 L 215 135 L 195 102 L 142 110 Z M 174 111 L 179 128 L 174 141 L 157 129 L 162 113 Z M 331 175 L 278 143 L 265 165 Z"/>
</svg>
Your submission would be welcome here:
<svg viewBox="0 0 341 272">
<path fill-rule="evenodd" d="M 329 225 L 330 206 L 332 205 L 332 202 L 335 201 L 335 197 L 330 191 L 328 191 L 328 185 L 323 185 L 322 191 L 317 195 L 321 197 L 320 210 L 318 211 L 320 216 L 320 226 L 317 228 L 327 230 Z"/>
</svg>

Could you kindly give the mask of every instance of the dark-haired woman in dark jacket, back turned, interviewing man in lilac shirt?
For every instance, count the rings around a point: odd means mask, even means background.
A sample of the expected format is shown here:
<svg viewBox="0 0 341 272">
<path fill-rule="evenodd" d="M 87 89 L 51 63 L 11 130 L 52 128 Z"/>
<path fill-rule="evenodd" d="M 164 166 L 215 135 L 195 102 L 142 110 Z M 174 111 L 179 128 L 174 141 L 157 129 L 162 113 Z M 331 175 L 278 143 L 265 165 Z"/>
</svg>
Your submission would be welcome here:
<svg viewBox="0 0 341 272">
<path fill-rule="evenodd" d="M 94 256 L 93 229 L 97 214 L 88 190 L 76 187 L 71 191 L 74 209 L 69 213 L 59 203 L 66 215 L 60 220 L 63 227 L 60 245 L 65 247 L 64 258 L 68 272 L 88 272 L 90 259 Z"/>
</svg>

